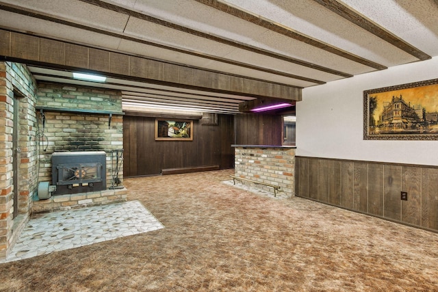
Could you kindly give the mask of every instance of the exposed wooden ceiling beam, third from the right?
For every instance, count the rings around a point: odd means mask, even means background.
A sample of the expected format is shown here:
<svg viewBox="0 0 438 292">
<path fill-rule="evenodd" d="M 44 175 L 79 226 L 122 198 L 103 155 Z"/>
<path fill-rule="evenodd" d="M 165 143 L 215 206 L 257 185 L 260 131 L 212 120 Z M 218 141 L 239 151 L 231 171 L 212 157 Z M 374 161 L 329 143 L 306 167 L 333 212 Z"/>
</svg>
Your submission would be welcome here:
<svg viewBox="0 0 438 292">
<path fill-rule="evenodd" d="M 227 38 L 221 38 L 219 36 L 214 36 L 213 34 L 206 34 L 206 33 L 202 32 L 202 31 L 197 31 L 195 29 L 190 29 L 190 28 L 184 27 L 182 25 L 177 25 L 176 23 L 170 23 L 169 21 L 164 21 L 162 19 L 155 18 L 153 16 L 149 16 L 149 15 L 146 15 L 146 14 L 142 14 L 142 13 L 136 12 L 134 10 L 129 10 L 127 8 L 120 7 L 118 5 L 114 5 L 114 4 L 111 4 L 111 3 L 106 3 L 104 1 L 100 1 L 100 0 L 79 0 L 79 1 L 83 1 L 83 2 L 86 2 L 86 3 L 89 3 L 89 4 L 94 4 L 94 5 L 97 5 L 97 6 L 101 7 L 101 8 L 105 8 L 107 10 L 112 10 L 114 12 L 119 12 L 119 13 L 127 14 L 129 16 L 142 19 L 143 21 L 149 21 L 149 22 L 155 23 L 157 25 L 162 25 L 164 27 L 170 27 L 172 29 L 177 29 L 177 30 L 183 31 L 183 32 L 185 32 L 187 34 L 192 34 L 194 36 L 205 38 L 207 40 L 213 40 L 215 42 L 220 42 L 221 44 L 227 44 L 227 45 L 229 45 L 231 47 L 235 47 L 235 48 L 238 48 L 238 49 L 243 49 L 243 50 L 250 51 L 250 52 L 253 52 L 253 53 L 258 53 L 260 55 L 266 55 L 266 56 L 272 57 L 274 59 L 281 59 L 282 61 L 285 61 L 285 62 L 289 62 L 289 63 L 292 63 L 292 64 L 297 64 L 297 65 L 300 65 L 300 66 L 305 66 L 307 68 L 312 68 L 312 69 L 315 69 L 315 70 L 320 70 L 322 72 L 326 72 L 326 73 L 333 74 L 333 75 L 338 75 L 338 76 L 342 76 L 342 77 L 352 77 L 351 74 L 346 73 L 346 72 L 341 72 L 339 70 L 333 70 L 331 68 L 326 68 L 324 66 L 319 66 L 319 65 L 313 64 L 311 62 L 305 62 L 305 61 L 302 61 L 300 59 L 289 57 L 287 55 L 283 55 L 283 54 L 279 54 L 279 53 L 273 53 L 272 51 L 268 51 L 268 50 L 265 50 L 265 49 L 260 49 L 260 48 L 254 47 L 254 46 L 250 46 L 248 44 L 244 44 L 242 42 L 237 42 L 235 40 L 229 40 Z"/>
</svg>

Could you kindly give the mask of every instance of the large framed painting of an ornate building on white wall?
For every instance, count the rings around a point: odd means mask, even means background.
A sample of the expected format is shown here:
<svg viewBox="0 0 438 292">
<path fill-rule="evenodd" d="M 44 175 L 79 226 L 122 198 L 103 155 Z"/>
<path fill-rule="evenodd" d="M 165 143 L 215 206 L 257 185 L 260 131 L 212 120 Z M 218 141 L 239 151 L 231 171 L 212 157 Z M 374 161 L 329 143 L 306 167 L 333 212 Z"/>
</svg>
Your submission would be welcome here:
<svg viewBox="0 0 438 292">
<path fill-rule="evenodd" d="M 438 79 L 365 90 L 364 140 L 437 140 Z"/>
</svg>

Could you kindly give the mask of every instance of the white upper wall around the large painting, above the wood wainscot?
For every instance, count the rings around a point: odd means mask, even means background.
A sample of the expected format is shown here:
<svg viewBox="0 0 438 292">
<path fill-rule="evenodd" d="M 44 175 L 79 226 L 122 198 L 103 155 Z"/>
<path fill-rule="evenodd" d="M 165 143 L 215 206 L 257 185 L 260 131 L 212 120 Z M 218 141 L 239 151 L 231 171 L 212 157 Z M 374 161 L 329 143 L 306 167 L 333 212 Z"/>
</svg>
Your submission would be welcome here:
<svg viewBox="0 0 438 292">
<path fill-rule="evenodd" d="M 438 165 L 438 141 L 363 140 L 363 90 L 438 78 L 438 57 L 305 88 L 296 155 Z"/>
</svg>

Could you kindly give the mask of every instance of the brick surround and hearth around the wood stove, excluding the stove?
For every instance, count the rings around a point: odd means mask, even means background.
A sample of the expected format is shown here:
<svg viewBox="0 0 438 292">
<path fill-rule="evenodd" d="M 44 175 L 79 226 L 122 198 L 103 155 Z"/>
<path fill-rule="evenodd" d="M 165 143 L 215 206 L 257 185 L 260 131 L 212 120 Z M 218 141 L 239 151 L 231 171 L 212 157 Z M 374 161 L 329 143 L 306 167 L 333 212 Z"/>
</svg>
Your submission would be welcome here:
<svg viewBox="0 0 438 292">
<path fill-rule="evenodd" d="M 42 112 L 38 111 L 37 115 L 39 181 L 52 183 L 51 155 L 55 151 L 105 151 L 107 187 L 111 187 L 113 165 L 115 167 L 116 162 L 112 151 L 123 149 L 121 93 L 58 83 L 38 83 L 37 108 L 42 108 Z M 112 114 L 110 118 L 108 112 L 120 114 Z M 123 185 L 123 160 L 119 161 L 122 165 L 118 178 L 122 182 L 120 185 Z M 55 196 L 35 202 L 34 211 L 104 204 L 114 200 L 126 200 L 126 191 L 93 191 Z"/>
</svg>

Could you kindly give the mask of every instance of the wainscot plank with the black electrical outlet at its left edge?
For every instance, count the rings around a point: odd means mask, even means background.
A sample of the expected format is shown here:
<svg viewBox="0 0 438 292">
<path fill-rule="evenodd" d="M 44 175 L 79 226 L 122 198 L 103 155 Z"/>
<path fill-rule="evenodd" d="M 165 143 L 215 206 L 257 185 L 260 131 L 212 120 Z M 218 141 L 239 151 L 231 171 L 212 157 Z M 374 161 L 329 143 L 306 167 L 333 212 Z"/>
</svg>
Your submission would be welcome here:
<svg viewBox="0 0 438 292">
<path fill-rule="evenodd" d="M 408 200 L 402 200 L 402 222 L 422 225 L 422 169 L 402 166 L 402 191 Z"/>
</svg>

